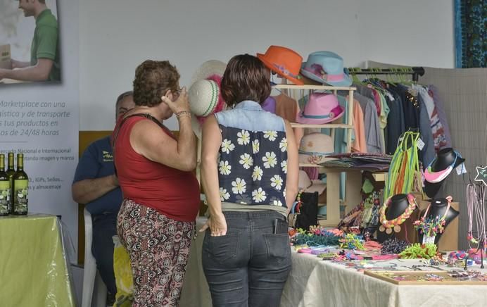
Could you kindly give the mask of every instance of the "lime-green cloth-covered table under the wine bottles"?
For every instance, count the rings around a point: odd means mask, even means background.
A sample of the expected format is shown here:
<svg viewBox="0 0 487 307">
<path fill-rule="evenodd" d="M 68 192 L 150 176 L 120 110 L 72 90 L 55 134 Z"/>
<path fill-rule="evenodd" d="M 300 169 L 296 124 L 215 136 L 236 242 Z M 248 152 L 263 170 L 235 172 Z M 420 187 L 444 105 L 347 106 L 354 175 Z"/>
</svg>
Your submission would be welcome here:
<svg viewBox="0 0 487 307">
<path fill-rule="evenodd" d="M 0 217 L 1 306 L 75 306 L 55 215 Z"/>
</svg>

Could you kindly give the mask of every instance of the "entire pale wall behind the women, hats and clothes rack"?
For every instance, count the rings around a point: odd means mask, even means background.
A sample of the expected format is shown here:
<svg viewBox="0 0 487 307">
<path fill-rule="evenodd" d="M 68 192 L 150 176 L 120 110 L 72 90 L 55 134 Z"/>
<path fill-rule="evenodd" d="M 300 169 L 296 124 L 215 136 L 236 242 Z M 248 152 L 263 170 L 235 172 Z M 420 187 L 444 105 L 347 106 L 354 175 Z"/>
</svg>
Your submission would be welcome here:
<svg viewBox="0 0 487 307">
<path fill-rule="evenodd" d="M 186 86 L 203 61 L 271 44 L 304 58 L 335 51 L 347 66 L 450 68 L 452 10 L 451 0 L 80 1 L 80 130 L 113 128 L 114 99 L 147 58 L 169 59 Z M 166 124 L 177 129 L 174 118 Z"/>
</svg>

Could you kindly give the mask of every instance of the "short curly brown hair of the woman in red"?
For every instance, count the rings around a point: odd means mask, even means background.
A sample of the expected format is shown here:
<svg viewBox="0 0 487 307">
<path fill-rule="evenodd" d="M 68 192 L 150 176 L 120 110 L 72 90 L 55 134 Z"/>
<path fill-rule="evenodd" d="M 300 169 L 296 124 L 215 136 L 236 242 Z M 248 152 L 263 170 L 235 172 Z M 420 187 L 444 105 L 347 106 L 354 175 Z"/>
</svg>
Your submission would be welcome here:
<svg viewBox="0 0 487 307">
<path fill-rule="evenodd" d="M 134 79 L 134 103 L 137 106 L 158 106 L 168 89 L 178 91 L 179 73 L 169 61 L 146 60 L 137 66 Z"/>
</svg>

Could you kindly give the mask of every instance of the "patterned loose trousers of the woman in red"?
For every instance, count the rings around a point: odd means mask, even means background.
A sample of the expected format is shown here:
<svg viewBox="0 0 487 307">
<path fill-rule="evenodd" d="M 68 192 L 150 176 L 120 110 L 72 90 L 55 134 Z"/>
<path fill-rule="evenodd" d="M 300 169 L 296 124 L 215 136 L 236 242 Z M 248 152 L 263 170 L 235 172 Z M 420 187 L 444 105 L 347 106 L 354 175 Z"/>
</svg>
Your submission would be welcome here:
<svg viewBox="0 0 487 307">
<path fill-rule="evenodd" d="M 132 306 L 177 306 L 194 222 L 180 222 L 125 199 L 118 213 L 120 242 L 134 275 Z"/>
</svg>

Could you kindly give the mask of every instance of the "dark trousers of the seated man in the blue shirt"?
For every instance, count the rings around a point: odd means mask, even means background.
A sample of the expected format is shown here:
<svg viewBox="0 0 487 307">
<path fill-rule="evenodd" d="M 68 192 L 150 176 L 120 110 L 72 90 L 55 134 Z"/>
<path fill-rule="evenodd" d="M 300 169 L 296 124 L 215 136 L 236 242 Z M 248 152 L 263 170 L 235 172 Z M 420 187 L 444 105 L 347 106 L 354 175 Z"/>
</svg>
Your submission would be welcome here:
<svg viewBox="0 0 487 307">
<path fill-rule="evenodd" d="M 93 242 L 91 253 L 96 260 L 101 279 L 106 284 L 108 292 L 115 295 L 115 273 L 113 272 L 113 239 L 117 234 L 117 214 L 107 213 L 93 215 Z"/>
</svg>

